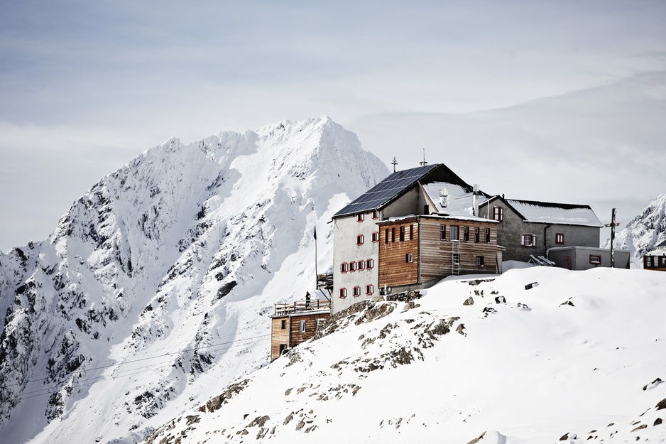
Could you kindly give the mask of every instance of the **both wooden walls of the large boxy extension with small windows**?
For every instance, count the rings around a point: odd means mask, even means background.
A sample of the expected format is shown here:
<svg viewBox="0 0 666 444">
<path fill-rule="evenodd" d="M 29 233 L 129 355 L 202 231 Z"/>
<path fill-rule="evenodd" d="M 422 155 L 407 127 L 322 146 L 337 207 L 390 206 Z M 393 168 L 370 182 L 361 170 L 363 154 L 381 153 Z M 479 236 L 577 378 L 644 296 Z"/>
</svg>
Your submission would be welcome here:
<svg viewBox="0 0 666 444">
<path fill-rule="evenodd" d="M 501 273 L 496 222 L 417 216 L 379 226 L 380 288 L 423 285 L 454 274 Z"/>
</svg>

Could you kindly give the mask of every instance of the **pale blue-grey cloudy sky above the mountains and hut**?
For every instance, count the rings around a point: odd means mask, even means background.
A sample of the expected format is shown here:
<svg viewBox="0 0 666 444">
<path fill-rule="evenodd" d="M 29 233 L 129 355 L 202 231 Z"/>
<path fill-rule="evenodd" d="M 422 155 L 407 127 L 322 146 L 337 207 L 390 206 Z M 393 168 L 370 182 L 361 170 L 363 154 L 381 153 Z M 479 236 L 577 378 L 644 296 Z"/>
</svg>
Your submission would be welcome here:
<svg viewBox="0 0 666 444">
<path fill-rule="evenodd" d="M 0 0 L 0 251 L 172 136 L 322 115 L 398 169 L 425 151 L 626 224 L 666 191 L 665 22 L 657 0 Z"/>
</svg>

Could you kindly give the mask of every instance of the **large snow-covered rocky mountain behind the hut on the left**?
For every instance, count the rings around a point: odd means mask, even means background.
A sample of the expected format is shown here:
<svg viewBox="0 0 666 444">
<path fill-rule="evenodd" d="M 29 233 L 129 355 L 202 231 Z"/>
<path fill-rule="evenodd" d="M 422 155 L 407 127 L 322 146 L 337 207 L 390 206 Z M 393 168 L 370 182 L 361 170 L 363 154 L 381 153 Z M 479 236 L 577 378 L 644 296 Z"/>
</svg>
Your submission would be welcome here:
<svg viewBox="0 0 666 444">
<path fill-rule="evenodd" d="M 266 364 L 273 303 L 329 267 L 327 222 L 388 175 L 327 117 L 171 139 L 0 254 L 3 443 L 135 442 Z M 83 439 L 82 439 L 83 438 Z"/>
</svg>

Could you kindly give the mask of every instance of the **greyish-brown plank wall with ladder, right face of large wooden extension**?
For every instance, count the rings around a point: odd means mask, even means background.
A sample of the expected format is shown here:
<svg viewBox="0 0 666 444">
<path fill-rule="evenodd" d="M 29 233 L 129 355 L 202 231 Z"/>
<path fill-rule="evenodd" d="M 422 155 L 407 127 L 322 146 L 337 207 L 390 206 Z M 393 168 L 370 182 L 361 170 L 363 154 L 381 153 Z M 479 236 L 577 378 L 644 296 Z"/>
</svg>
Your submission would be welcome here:
<svg viewBox="0 0 666 444">
<path fill-rule="evenodd" d="M 441 225 L 447 227 L 447 239 L 441 240 Z M 451 226 L 459 227 L 459 241 L 451 240 Z M 463 239 L 464 227 L 469 228 L 469 241 Z M 474 227 L 479 228 L 479 242 L 474 242 Z M 490 229 L 490 242 L 484 239 Z M 420 220 L 420 283 L 450 276 L 453 271 L 454 248 L 459 247 L 459 274 L 496 272 L 497 228 L 493 222 L 427 219 Z M 458 246 L 456 244 L 459 244 Z M 476 266 L 476 256 L 484 256 L 484 266 Z"/>
</svg>

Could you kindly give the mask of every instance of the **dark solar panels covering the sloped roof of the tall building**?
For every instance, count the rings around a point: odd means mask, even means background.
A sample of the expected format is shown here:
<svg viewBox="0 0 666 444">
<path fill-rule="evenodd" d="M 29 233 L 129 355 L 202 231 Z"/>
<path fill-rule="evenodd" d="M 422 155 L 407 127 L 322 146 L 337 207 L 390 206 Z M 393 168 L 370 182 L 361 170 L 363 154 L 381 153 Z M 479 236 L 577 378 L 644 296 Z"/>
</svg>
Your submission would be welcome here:
<svg viewBox="0 0 666 444">
<path fill-rule="evenodd" d="M 396 171 L 335 213 L 333 217 L 375 210 L 413 185 L 433 168 L 437 168 L 437 164 Z"/>
</svg>

